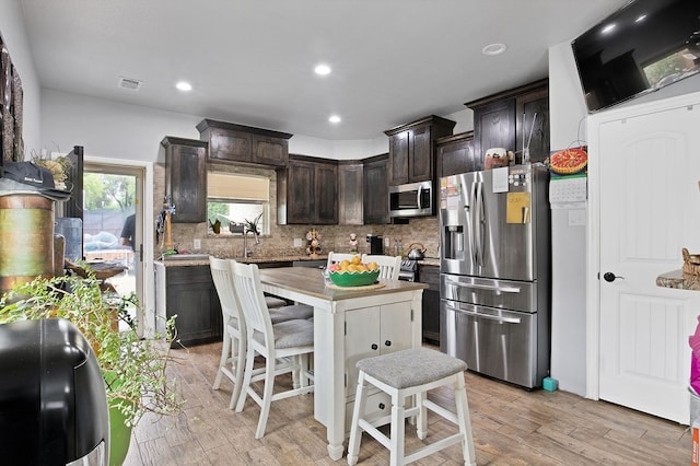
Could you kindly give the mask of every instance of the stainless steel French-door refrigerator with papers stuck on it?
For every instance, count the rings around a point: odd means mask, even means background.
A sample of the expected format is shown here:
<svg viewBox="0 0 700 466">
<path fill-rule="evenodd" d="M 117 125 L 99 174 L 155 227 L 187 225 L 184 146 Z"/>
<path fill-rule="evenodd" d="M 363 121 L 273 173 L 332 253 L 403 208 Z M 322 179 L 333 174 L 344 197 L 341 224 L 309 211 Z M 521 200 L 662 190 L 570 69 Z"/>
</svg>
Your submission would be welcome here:
<svg viewBox="0 0 700 466">
<path fill-rule="evenodd" d="M 440 184 L 440 348 L 526 388 L 549 375 L 548 186 L 539 164 Z"/>
</svg>

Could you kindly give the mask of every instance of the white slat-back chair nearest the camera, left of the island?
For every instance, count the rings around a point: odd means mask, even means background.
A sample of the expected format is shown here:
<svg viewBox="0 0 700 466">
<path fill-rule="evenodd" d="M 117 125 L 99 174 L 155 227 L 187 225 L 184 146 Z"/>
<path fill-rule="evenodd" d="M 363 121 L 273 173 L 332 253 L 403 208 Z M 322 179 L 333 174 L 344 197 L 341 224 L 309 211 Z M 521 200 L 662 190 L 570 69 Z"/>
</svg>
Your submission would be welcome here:
<svg viewBox="0 0 700 466">
<path fill-rule="evenodd" d="M 261 439 L 265 435 L 272 401 L 314 391 L 313 375 L 308 371 L 308 357 L 313 357 L 314 353 L 314 324 L 294 319 L 272 325 L 269 311 L 265 305 L 258 267 L 255 264 L 232 263 L 231 268 L 247 330 L 243 391 L 238 397 L 236 412 L 243 410 L 247 396 L 260 406 L 255 438 Z M 256 353 L 265 358 L 262 373 L 258 370 L 254 371 Z M 298 374 L 301 386 L 273 393 L 275 377 L 288 372 L 293 376 Z M 258 381 L 265 381 L 262 395 L 259 395 L 253 386 L 253 382 Z"/>
</svg>

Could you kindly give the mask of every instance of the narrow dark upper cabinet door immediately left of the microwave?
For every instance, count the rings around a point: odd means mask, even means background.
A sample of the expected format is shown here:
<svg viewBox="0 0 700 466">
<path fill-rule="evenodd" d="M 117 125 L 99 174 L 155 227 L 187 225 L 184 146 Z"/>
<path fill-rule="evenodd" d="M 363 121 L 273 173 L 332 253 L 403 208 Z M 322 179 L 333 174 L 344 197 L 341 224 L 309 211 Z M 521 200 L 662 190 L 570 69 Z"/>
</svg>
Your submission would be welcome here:
<svg viewBox="0 0 700 466">
<path fill-rule="evenodd" d="M 364 161 L 362 215 L 364 224 L 389 223 L 388 154 Z"/>
</svg>

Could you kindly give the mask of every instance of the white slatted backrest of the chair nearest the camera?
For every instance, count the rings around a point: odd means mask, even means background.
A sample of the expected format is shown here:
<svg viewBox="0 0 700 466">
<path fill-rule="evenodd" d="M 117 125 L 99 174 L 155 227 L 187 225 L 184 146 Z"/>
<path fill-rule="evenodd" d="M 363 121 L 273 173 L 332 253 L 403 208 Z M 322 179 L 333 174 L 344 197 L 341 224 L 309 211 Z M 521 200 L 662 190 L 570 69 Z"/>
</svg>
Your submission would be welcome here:
<svg viewBox="0 0 700 466">
<path fill-rule="evenodd" d="M 250 341 L 253 334 L 258 331 L 265 336 L 265 346 L 269 349 L 275 348 L 272 322 L 265 303 L 258 266 L 235 261 L 230 266 L 233 271 L 233 282 L 241 303 L 241 311 L 246 321 L 248 341 Z"/>
</svg>

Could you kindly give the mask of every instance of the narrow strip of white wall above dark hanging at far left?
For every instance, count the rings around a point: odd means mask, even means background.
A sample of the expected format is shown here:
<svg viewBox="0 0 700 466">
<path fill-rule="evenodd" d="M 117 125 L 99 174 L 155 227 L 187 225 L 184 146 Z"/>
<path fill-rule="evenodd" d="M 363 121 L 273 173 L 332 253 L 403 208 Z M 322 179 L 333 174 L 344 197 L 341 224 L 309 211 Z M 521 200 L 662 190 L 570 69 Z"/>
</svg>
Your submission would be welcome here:
<svg viewBox="0 0 700 466">
<path fill-rule="evenodd" d="M 40 88 L 36 71 L 34 69 L 34 58 L 30 51 L 26 32 L 24 30 L 24 19 L 22 18 L 22 5 L 15 0 L 0 1 L 0 34 L 5 47 L 10 53 L 12 63 L 18 69 L 22 80 L 23 100 L 23 138 L 25 151 L 38 148 L 40 128 Z"/>
</svg>

